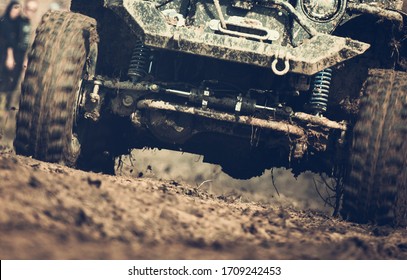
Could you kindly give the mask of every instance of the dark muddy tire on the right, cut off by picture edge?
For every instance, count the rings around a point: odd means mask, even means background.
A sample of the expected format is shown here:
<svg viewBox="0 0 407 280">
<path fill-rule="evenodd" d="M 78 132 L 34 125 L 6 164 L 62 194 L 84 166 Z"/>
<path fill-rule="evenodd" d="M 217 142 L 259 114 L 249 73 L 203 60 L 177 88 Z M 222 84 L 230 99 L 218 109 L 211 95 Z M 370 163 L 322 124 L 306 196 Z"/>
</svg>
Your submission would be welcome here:
<svg viewBox="0 0 407 280">
<path fill-rule="evenodd" d="M 407 73 L 370 70 L 353 131 L 342 214 L 356 222 L 407 224 Z"/>
</svg>

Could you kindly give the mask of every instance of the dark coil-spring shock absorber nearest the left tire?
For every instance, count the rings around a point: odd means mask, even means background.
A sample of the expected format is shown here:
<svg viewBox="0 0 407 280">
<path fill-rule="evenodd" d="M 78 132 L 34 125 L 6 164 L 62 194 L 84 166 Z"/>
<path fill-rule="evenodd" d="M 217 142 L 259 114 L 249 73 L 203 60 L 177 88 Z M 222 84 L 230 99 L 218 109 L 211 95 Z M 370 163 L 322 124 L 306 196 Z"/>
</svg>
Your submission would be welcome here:
<svg viewBox="0 0 407 280">
<path fill-rule="evenodd" d="M 139 81 L 148 73 L 151 63 L 150 55 L 151 50 L 141 40 L 138 40 L 133 49 L 129 71 L 127 72 L 133 82 Z"/>
</svg>

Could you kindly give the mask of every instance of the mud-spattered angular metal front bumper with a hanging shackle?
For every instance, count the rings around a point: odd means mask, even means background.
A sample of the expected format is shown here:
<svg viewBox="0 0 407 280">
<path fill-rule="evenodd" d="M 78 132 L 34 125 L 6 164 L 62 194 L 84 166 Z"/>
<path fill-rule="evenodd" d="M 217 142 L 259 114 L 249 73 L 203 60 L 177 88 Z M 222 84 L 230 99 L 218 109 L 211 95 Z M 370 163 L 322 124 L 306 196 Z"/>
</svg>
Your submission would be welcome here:
<svg viewBox="0 0 407 280">
<path fill-rule="evenodd" d="M 273 67 L 283 62 L 287 72 L 313 75 L 325 68 L 363 54 L 369 44 L 316 33 L 298 47 L 282 46 L 207 32 L 195 26 L 172 26 L 154 3 L 141 0 L 106 0 L 106 7 L 123 18 L 147 46 Z M 277 73 L 276 73 L 277 74 Z"/>
</svg>

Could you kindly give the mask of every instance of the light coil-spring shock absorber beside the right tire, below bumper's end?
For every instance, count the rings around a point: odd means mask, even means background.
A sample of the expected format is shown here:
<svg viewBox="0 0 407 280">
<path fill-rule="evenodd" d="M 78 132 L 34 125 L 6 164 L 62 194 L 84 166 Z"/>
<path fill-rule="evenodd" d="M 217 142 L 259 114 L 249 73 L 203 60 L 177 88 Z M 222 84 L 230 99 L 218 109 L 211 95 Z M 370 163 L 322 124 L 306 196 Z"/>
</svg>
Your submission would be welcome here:
<svg viewBox="0 0 407 280">
<path fill-rule="evenodd" d="M 318 72 L 314 77 L 311 99 L 309 101 L 311 111 L 320 115 L 326 112 L 328 107 L 329 88 L 331 86 L 332 69 L 326 68 Z"/>
</svg>

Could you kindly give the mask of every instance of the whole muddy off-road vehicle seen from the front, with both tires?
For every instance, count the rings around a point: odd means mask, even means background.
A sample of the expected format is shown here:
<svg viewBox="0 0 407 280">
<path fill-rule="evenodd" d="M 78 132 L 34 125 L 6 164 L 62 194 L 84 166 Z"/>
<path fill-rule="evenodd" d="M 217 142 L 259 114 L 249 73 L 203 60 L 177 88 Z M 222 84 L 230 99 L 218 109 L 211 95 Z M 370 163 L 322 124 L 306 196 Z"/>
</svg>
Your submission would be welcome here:
<svg viewBox="0 0 407 280">
<path fill-rule="evenodd" d="M 48 12 L 16 152 L 113 172 L 131 148 L 193 152 L 239 178 L 343 179 L 343 217 L 407 221 L 402 0 L 89 0 Z"/>
</svg>

